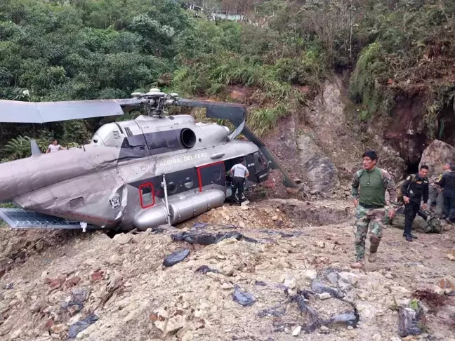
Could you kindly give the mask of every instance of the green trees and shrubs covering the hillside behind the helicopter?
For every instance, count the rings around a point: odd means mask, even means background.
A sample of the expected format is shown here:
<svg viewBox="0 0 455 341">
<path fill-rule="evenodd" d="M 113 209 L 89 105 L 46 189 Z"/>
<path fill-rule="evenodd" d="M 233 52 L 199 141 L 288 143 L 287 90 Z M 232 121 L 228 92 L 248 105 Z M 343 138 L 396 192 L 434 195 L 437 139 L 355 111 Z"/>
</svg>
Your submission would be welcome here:
<svg viewBox="0 0 455 341">
<path fill-rule="evenodd" d="M 437 134 L 439 112 L 455 105 L 455 1 L 194 2 L 246 11 L 251 22 L 194 18 L 173 0 L 4 0 L 0 98 L 128 98 L 159 87 L 234 100 L 237 90 L 248 93 L 249 125 L 263 134 L 332 72 L 352 70 L 361 120 L 388 115 L 396 95 L 421 96 Z M 51 138 L 83 143 L 104 122 L 0 124 L 0 159 L 26 155 L 26 136 L 43 148 Z"/>
</svg>

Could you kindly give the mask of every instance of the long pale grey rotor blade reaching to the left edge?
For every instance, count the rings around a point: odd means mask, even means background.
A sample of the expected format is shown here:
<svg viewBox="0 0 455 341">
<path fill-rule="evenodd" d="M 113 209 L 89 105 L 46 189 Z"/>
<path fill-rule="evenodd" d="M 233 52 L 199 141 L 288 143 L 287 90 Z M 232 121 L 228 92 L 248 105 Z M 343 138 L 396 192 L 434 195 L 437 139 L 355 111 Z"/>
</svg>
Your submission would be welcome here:
<svg viewBox="0 0 455 341">
<path fill-rule="evenodd" d="M 0 122 L 45 123 L 91 117 L 120 116 L 140 107 L 137 98 L 121 100 L 74 100 L 62 102 L 21 102 L 0 100 Z"/>
</svg>

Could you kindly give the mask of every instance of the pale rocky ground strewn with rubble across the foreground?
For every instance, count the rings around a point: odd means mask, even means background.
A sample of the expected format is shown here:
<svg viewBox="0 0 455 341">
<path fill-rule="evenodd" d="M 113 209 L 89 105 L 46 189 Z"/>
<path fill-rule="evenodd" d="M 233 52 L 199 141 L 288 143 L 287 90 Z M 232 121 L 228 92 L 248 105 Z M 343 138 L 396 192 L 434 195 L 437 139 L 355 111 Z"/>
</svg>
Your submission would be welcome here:
<svg viewBox="0 0 455 341">
<path fill-rule="evenodd" d="M 182 231 L 254 240 L 173 241 Z M 397 306 L 429 289 L 437 294 L 421 301 L 423 334 L 403 340 L 453 340 L 454 241 L 450 227 L 414 243 L 389 227 L 377 262 L 352 270 L 347 201 L 223 206 L 179 230 L 113 238 L 2 227 L 0 339 L 63 340 L 88 326 L 77 340 L 401 340 Z M 167 255 L 184 249 L 185 260 L 164 267 Z M 343 313 L 351 326 L 329 323 Z"/>
</svg>

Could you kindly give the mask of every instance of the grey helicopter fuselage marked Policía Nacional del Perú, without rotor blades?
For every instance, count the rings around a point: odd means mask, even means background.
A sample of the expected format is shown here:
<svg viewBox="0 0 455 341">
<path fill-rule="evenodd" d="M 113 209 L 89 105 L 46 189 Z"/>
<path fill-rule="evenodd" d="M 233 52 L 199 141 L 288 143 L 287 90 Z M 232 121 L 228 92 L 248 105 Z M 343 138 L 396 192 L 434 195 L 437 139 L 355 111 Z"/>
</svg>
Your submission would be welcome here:
<svg viewBox="0 0 455 341">
<path fill-rule="evenodd" d="M 267 180 L 259 148 L 228 135 L 186 115 L 107 123 L 88 145 L 0 164 L 0 202 L 103 228 L 177 223 L 223 204 L 239 158 L 247 188 Z"/>
</svg>

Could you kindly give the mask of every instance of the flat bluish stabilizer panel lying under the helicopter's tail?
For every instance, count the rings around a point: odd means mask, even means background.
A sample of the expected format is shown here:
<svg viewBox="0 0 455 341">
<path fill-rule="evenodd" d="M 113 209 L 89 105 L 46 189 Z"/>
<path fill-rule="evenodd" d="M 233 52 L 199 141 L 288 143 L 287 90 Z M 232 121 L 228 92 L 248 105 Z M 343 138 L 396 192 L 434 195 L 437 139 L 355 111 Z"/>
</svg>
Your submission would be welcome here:
<svg viewBox="0 0 455 341">
<path fill-rule="evenodd" d="M 81 229 L 79 222 L 22 208 L 0 208 L 0 218 L 13 229 Z"/>
</svg>

